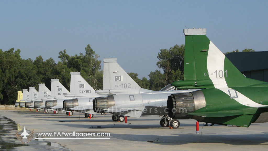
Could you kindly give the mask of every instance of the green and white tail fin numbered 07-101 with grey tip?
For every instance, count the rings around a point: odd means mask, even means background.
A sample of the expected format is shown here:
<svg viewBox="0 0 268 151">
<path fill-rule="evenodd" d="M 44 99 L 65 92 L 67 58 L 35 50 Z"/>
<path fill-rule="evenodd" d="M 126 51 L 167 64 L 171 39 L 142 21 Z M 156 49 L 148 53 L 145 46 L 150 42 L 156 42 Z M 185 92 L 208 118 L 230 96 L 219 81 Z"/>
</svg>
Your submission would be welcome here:
<svg viewBox="0 0 268 151">
<path fill-rule="evenodd" d="M 264 82 L 246 78 L 206 36 L 206 29 L 184 29 L 184 81 L 178 88 L 226 88 L 259 86 Z"/>
</svg>

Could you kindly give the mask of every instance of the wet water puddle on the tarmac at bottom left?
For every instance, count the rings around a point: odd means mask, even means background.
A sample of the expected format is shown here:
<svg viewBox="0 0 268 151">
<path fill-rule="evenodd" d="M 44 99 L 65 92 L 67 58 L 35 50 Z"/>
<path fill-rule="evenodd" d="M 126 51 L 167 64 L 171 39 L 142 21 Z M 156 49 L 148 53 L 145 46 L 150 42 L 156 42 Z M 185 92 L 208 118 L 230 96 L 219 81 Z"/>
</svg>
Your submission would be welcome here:
<svg viewBox="0 0 268 151">
<path fill-rule="evenodd" d="M 28 144 L 22 144 L 16 137 L 16 130 L 18 134 L 21 134 L 24 127 L 7 117 L 0 116 L 0 150 L 70 150 L 55 142 L 35 139 L 32 139 Z M 27 130 L 27 133 L 30 134 L 30 130 Z M 27 142 L 28 139 L 22 140 Z"/>
</svg>

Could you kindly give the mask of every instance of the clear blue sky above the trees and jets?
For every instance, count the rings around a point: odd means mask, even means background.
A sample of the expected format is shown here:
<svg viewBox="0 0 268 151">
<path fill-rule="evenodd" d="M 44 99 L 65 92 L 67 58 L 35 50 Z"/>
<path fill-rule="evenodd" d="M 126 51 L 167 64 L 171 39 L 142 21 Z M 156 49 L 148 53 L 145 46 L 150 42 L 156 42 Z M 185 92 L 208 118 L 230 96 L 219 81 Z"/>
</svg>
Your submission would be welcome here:
<svg viewBox="0 0 268 151">
<path fill-rule="evenodd" d="M 268 1 L 0 1 L 0 49 L 23 59 L 85 53 L 147 77 L 160 49 L 184 44 L 183 29 L 206 28 L 222 51 L 268 51 Z M 103 64 L 102 64 L 103 66 Z"/>
</svg>

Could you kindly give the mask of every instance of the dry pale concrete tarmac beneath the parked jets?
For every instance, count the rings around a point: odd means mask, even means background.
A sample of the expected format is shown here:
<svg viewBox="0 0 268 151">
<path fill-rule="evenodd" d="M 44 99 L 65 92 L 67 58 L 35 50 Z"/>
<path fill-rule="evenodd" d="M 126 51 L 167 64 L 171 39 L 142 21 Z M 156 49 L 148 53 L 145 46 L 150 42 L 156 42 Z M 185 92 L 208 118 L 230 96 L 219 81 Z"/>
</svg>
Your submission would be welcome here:
<svg viewBox="0 0 268 151">
<path fill-rule="evenodd" d="M 232 125 L 210 126 L 210 124 L 203 126 L 203 123 L 200 123 L 200 134 L 196 134 L 196 121 L 192 119 L 181 119 L 178 129 L 170 129 L 160 126 L 161 117 L 159 116 L 129 117 L 127 122 L 129 125 L 125 125 L 124 122 L 112 121 L 111 114 L 95 115 L 92 119 L 85 118 L 84 114 L 77 112 L 70 117 L 66 116 L 65 112 L 56 115 L 42 111 L 38 113 L 33 111 L 0 111 L 0 115 L 10 118 L 20 126 L 26 126 L 28 132 L 34 130 L 35 137 L 37 137 L 37 133 L 41 132 L 110 133 L 108 137 L 85 137 L 110 138 L 110 140 L 49 140 L 71 150 L 237 151 L 266 150 L 268 147 L 268 123 L 253 123 L 249 128 Z"/>
</svg>

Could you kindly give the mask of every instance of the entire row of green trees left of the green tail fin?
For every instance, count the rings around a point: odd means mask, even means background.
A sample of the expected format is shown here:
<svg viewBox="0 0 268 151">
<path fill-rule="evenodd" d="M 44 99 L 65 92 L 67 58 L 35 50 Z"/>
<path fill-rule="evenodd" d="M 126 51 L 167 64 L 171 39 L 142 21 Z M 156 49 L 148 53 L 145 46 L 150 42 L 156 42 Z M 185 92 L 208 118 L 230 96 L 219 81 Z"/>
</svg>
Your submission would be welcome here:
<svg viewBox="0 0 268 151">
<path fill-rule="evenodd" d="M 51 87 L 51 79 L 59 79 L 66 89 L 70 90 L 70 72 L 80 72 L 81 76 L 95 89 L 102 89 L 103 71 L 99 55 L 87 45 L 85 54 L 80 53 L 70 56 L 66 50 L 59 52 L 60 61 L 55 63 L 52 58 L 44 59 L 42 56 L 22 59 L 20 49 L 14 48 L 7 51 L 0 49 L 0 103 L 14 104 L 17 100 L 17 91 L 36 87 L 44 83 L 47 88 Z M 184 65 L 184 45 L 175 45 L 168 49 L 161 49 L 158 53 L 157 66 L 164 70 L 155 70 L 146 77 L 138 78 L 137 73 L 129 75 L 142 88 L 160 90 L 175 80 L 182 80 Z"/>
</svg>

